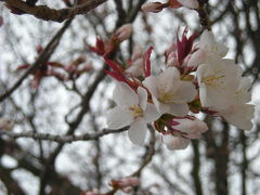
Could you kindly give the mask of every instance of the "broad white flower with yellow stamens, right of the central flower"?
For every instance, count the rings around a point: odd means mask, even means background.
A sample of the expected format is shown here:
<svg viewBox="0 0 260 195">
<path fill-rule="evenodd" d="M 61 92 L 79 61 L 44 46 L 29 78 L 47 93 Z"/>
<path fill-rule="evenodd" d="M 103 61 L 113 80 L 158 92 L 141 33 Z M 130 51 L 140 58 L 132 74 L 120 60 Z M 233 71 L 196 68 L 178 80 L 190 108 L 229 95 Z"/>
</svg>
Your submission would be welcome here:
<svg viewBox="0 0 260 195">
<path fill-rule="evenodd" d="M 196 72 L 203 107 L 225 109 L 234 101 L 242 69 L 233 60 L 208 57 Z"/>
</svg>

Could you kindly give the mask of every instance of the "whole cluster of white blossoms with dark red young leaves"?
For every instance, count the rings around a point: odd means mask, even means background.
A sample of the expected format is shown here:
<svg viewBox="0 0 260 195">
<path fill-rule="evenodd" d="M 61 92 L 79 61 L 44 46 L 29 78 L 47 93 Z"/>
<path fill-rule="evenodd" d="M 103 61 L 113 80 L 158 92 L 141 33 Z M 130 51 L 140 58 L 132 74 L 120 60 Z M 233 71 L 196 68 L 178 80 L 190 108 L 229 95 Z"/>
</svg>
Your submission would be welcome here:
<svg viewBox="0 0 260 195">
<path fill-rule="evenodd" d="M 165 65 L 158 75 L 151 69 L 151 47 L 143 55 L 133 52 L 125 67 L 105 58 L 108 75 L 117 80 L 113 100 L 117 106 L 106 115 L 110 129 L 130 126 L 129 139 L 144 144 L 147 123 L 153 123 L 169 150 L 186 148 L 192 139 L 208 130 L 194 114 L 222 117 L 239 129 L 250 130 L 255 106 L 249 104 L 251 79 L 234 60 L 224 58 L 227 48 L 205 30 L 187 37 L 187 28 L 165 51 Z"/>
</svg>

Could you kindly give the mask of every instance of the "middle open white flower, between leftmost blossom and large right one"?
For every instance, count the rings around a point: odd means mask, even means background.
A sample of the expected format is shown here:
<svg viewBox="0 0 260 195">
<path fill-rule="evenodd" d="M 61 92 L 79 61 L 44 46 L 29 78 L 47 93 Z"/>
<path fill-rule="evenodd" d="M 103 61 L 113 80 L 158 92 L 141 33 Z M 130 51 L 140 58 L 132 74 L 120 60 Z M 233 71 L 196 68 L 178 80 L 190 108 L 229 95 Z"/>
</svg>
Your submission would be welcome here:
<svg viewBox="0 0 260 195">
<path fill-rule="evenodd" d="M 185 116 L 188 113 L 187 103 L 197 94 L 191 81 L 182 81 L 176 67 L 169 67 L 159 76 L 145 78 L 143 84 L 152 94 L 153 102 L 160 114 Z"/>
</svg>

